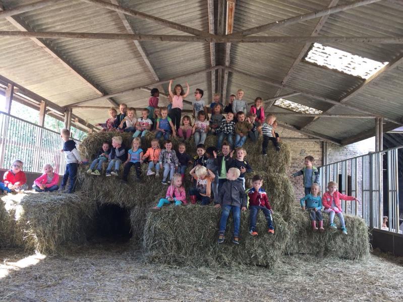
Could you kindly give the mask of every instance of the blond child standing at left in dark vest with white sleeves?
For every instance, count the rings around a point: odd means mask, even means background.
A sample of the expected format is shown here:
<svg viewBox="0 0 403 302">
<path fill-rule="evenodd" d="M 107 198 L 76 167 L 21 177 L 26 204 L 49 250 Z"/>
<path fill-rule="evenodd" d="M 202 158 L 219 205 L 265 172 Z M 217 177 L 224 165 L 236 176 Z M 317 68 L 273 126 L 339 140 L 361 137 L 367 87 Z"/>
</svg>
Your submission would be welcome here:
<svg viewBox="0 0 403 302">
<path fill-rule="evenodd" d="M 76 142 L 70 139 L 70 130 L 62 129 L 60 132 L 60 136 L 65 141 L 63 145 L 62 152 L 65 154 L 66 159 L 66 171 L 63 176 L 62 184 L 60 185 L 60 191 L 65 191 L 67 180 L 70 176 L 70 186 L 67 190 L 68 194 L 74 192 L 76 187 L 76 179 L 77 179 L 77 169 L 78 164 L 81 163 L 81 156 L 76 148 Z"/>
</svg>

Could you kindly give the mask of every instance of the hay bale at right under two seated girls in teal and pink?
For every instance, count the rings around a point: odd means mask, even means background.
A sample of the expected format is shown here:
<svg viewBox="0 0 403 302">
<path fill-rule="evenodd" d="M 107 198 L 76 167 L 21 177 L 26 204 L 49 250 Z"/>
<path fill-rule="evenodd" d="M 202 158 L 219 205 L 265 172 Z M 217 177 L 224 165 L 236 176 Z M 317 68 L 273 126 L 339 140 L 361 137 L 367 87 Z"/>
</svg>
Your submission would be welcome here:
<svg viewBox="0 0 403 302">
<path fill-rule="evenodd" d="M 309 214 L 301 211 L 301 208 L 293 208 L 288 221 L 291 240 L 285 253 L 318 254 L 351 260 L 367 258 L 370 245 L 365 221 L 360 217 L 344 215 L 349 234 L 343 235 L 340 230 L 329 228 L 328 217 L 327 214 L 323 215 L 325 231 L 313 232 Z M 334 221 L 339 225 L 337 216 Z"/>
</svg>

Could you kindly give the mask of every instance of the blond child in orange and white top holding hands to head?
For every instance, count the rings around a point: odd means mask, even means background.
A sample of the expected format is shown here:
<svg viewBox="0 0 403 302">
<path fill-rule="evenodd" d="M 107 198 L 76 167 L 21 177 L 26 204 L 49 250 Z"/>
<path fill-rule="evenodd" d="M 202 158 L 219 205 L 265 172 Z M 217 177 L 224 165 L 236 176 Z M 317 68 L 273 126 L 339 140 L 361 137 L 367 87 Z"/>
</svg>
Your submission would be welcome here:
<svg viewBox="0 0 403 302">
<path fill-rule="evenodd" d="M 215 177 L 214 173 L 201 165 L 195 166 L 189 173 L 196 180 L 195 186 L 189 189 L 190 202 L 194 205 L 198 200 L 201 200 L 202 206 L 208 205 L 211 196 L 211 183 Z"/>
</svg>

